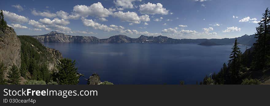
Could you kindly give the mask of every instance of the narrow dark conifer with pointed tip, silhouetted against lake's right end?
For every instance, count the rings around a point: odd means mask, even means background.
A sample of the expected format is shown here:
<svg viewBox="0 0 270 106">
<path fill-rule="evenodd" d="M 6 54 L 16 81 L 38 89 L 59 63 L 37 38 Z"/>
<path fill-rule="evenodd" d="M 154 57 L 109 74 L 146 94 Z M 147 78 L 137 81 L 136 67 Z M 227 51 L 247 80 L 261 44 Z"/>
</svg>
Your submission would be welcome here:
<svg viewBox="0 0 270 106">
<path fill-rule="evenodd" d="M 238 42 L 237 39 L 235 39 L 232 52 L 230 54 L 230 60 L 229 60 L 229 74 L 230 74 L 230 84 L 236 84 L 237 80 L 239 79 L 240 75 L 240 67 L 241 67 L 241 51 L 240 48 L 237 46 Z"/>
</svg>

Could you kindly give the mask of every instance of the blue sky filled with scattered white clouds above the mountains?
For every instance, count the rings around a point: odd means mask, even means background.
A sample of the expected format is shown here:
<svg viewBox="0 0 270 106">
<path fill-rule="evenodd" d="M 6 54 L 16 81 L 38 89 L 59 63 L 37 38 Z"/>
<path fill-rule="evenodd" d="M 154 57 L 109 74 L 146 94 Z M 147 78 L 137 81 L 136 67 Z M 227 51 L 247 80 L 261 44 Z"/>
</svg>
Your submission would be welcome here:
<svg viewBox="0 0 270 106">
<path fill-rule="evenodd" d="M 108 38 L 127 35 L 234 38 L 256 32 L 269 0 L 9 0 L 1 3 L 17 35 L 51 31 Z"/>
</svg>

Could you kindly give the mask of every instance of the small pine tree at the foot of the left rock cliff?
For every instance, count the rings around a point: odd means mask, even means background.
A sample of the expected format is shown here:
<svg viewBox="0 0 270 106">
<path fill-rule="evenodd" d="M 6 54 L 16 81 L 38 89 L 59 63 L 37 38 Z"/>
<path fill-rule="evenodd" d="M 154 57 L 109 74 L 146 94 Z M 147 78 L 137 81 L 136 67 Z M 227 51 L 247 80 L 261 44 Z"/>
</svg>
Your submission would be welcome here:
<svg viewBox="0 0 270 106">
<path fill-rule="evenodd" d="M 12 65 L 10 71 L 9 71 L 9 83 L 10 84 L 19 84 L 20 82 L 20 73 L 19 73 L 19 69 L 16 65 Z"/>
</svg>

